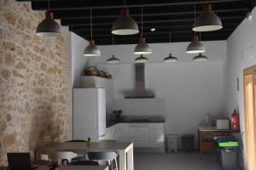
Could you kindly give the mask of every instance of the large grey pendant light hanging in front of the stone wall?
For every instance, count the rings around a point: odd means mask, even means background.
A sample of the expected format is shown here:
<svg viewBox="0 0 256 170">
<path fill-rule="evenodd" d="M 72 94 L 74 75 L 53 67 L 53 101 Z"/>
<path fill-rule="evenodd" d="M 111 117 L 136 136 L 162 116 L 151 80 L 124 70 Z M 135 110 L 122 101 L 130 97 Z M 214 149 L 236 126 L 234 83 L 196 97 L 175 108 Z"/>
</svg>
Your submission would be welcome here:
<svg viewBox="0 0 256 170">
<path fill-rule="evenodd" d="M 41 37 L 57 37 L 61 35 L 61 26 L 53 20 L 53 13 L 49 11 L 49 0 L 45 19 L 39 23 L 36 35 Z"/>
</svg>

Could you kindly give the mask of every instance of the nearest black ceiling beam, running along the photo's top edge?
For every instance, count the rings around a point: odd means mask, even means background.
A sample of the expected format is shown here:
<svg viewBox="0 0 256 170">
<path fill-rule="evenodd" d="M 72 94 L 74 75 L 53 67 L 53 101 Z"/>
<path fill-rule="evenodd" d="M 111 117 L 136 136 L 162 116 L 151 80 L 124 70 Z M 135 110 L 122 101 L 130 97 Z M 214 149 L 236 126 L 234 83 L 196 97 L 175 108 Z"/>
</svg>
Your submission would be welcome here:
<svg viewBox="0 0 256 170">
<path fill-rule="evenodd" d="M 244 2 L 244 0 L 212 0 L 207 1 L 207 3 L 234 3 L 234 2 Z M 172 1 L 172 3 L 166 3 L 164 0 L 160 1 L 145 1 L 145 2 L 132 2 L 126 3 L 126 8 L 138 8 L 138 7 L 161 7 L 161 6 L 179 6 L 179 5 L 191 5 L 191 4 L 203 4 L 206 1 Z M 79 9 L 90 9 L 90 8 L 124 8 L 122 1 L 80 1 L 75 3 L 74 1 L 68 1 L 63 3 L 61 2 L 51 2 L 49 4 L 51 11 L 57 10 L 79 10 Z M 47 10 L 48 2 L 47 1 L 32 1 L 32 9 L 34 10 Z"/>
</svg>

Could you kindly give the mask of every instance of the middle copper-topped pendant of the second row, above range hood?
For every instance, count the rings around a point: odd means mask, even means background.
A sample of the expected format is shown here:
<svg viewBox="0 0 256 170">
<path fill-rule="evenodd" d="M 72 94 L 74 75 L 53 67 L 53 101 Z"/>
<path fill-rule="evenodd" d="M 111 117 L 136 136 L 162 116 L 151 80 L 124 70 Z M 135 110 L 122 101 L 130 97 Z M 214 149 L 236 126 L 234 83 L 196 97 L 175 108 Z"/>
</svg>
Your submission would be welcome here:
<svg viewBox="0 0 256 170">
<path fill-rule="evenodd" d="M 148 44 L 146 43 L 145 37 L 143 37 L 143 7 L 142 7 L 142 34 L 140 37 L 140 42 L 134 48 L 133 54 L 152 54 L 151 48 L 149 48 Z"/>
</svg>

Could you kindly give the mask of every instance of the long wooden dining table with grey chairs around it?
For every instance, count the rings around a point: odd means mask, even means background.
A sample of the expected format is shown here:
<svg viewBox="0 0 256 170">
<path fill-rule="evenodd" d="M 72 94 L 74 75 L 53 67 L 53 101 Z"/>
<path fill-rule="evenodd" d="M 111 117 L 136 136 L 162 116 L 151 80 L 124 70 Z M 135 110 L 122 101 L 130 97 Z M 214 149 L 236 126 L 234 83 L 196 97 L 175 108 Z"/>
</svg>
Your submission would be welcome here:
<svg viewBox="0 0 256 170">
<path fill-rule="evenodd" d="M 36 161 L 41 161 L 42 154 L 50 154 L 57 151 L 73 151 L 84 155 L 88 152 L 114 151 L 119 154 L 119 170 L 133 170 L 133 144 L 119 142 L 91 142 L 90 145 L 84 142 L 53 143 L 40 147 L 36 150 Z"/>
</svg>

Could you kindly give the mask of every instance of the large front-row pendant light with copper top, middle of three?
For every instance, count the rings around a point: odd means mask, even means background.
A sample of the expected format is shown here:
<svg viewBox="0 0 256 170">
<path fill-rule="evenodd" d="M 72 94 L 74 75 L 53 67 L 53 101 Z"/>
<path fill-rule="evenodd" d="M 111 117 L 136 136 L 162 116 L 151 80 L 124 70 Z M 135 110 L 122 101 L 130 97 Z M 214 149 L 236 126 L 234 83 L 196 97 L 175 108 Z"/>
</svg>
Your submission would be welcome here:
<svg viewBox="0 0 256 170">
<path fill-rule="evenodd" d="M 137 23 L 129 15 L 129 9 L 122 8 L 119 19 L 113 23 L 112 33 L 116 35 L 132 35 L 138 32 Z"/>
</svg>

